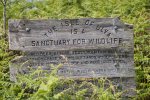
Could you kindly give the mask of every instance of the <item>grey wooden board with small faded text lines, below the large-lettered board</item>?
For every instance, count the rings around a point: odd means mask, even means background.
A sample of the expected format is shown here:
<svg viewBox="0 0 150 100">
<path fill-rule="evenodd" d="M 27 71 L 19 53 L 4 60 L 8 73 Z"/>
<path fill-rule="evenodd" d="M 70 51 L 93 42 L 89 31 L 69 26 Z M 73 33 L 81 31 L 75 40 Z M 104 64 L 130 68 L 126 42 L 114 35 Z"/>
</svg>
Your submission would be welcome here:
<svg viewBox="0 0 150 100">
<path fill-rule="evenodd" d="M 71 78 L 134 77 L 133 52 L 123 49 L 90 49 L 67 51 L 32 51 L 12 61 L 11 73 L 28 73 L 28 66 L 51 70 L 62 64 L 58 75 Z M 14 67 L 17 66 L 17 67 Z"/>
</svg>

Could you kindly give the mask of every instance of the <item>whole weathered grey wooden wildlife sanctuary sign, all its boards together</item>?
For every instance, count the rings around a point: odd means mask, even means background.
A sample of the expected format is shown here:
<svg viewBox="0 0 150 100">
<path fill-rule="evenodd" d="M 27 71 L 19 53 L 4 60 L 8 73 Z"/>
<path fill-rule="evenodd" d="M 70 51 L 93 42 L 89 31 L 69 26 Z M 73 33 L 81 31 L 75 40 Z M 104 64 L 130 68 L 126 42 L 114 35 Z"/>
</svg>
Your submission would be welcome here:
<svg viewBox="0 0 150 100">
<path fill-rule="evenodd" d="M 9 48 L 25 53 L 10 63 L 12 81 L 30 67 L 51 72 L 61 63 L 60 77 L 108 77 L 135 88 L 133 28 L 117 18 L 9 20 Z"/>
</svg>

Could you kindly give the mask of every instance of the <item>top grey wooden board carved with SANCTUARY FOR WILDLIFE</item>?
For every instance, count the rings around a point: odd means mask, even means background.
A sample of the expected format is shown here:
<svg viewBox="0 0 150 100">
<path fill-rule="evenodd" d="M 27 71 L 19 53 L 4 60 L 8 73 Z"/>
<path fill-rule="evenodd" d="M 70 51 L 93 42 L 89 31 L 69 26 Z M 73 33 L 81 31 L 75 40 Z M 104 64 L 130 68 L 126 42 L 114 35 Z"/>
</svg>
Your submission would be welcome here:
<svg viewBox="0 0 150 100">
<path fill-rule="evenodd" d="M 133 32 L 117 18 L 9 20 L 9 48 L 22 51 L 133 49 Z"/>
</svg>

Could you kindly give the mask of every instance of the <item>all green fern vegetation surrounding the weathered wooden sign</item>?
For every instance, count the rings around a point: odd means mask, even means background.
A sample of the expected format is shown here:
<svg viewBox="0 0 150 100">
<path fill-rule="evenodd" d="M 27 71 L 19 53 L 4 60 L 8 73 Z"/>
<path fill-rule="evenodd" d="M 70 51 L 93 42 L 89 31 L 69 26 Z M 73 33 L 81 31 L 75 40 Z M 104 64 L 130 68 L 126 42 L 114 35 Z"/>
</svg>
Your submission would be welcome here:
<svg viewBox="0 0 150 100">
<path fill-rule="evenodd" d="M 41 100 L 54 100 L 60 99 L 60 97 L 71 98 L 69 94 L 66 95 L 67 90 L 56 95 L 52 94 L 52 89 L 58 85 L 58 78 L 53 75 L 45 79 L 39 77 L 36 80 L 32 80 L 32 75 L 28 75 L 21 76 L 23 78 L 20 78 L 17 83 L 9 81 L 9 61 L 21 54 L 8 49 L 8 32 L 5 29 L 7 29 L 9 19 L 119 17 L 123 22 L 134 25 L 134 61 L 137 83 L 137 96 L 134 99 L 150 100 L 150 0 L 0 1 L 0 99 L 18 100 L 36 97 Z M 7 2 L 5 3 L 5 1 Z M 34 74 L 37 73 L 40 72 L 37 71 Z M 24 81 L 26 81 L 26 85 L 23 85 Z M 50 89 L 48 90 L 48 88 Z M 82 96 L 85 91 L 84 89 L 77 91 L 74 98 L 84 99 Z M 109 91 L 102 94 L 104 97 L 99 97 L 100 100 L 117 99 Z"/>
</svg>

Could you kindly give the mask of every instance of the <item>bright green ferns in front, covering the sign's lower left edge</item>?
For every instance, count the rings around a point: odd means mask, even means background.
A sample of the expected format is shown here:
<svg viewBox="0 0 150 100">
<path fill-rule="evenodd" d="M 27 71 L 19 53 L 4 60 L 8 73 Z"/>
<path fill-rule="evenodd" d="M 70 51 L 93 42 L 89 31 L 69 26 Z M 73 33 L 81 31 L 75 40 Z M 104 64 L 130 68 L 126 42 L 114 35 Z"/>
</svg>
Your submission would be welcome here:
<svg viewBox="0 0 150 100">
<path fill-rule="evenodd" d="M 121 92 L 115 92 L 115 86 L 107 79 L 98 79 L 98 84 L 73 79 L 60 79 L 56 70 L 61 65 L 55 66 L 53 74 L 41 70 L 32 70 L 29 74 L 18 74 L 17 82 L 0 81 L 0 94 L 3 100 L 116 100 Z M 43 74 L 45 73 L 45 74 Z M 55 74 L 54 74 L 55 73 Z M 108 88 L 105 84 L 108 83 Z M 99 86 L 98 86 L 99 85 Z M 115 94 L 114 94 L 115 93 Z M 118 95 L 119 94 L 119 95 Z"/>
</svg>

